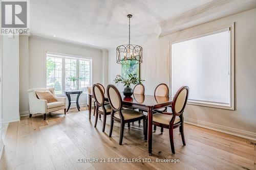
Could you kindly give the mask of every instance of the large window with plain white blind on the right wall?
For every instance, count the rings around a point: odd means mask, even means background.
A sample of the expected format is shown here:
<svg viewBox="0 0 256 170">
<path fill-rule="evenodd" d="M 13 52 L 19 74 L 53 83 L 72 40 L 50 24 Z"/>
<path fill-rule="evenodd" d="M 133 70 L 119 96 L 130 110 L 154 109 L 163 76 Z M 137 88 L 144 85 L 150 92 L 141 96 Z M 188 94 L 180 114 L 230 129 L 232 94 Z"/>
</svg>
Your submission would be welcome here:
<svg viewBox="0 0 256 170">
<path fill-rule="evenodd" d="M 183 85 L 188 104 L 233 109 L 230 28 L 172 43 L 172 95 Z"/>
</svg>

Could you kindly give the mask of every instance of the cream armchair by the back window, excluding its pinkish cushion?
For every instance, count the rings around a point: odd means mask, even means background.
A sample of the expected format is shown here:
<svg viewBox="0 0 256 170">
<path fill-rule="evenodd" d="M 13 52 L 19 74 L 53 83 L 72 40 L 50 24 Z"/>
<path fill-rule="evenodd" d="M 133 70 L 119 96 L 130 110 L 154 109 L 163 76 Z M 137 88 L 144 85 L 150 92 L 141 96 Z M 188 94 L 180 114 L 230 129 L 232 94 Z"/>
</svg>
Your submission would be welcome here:
<svg viewBox="0 0 256 170">
<path fill-rule="evenodd" d="M 29 95 L 29 117 L 32 117 L 32 114 L 42 113 L 44 114 L 44 120 L 46 119 L 46 114 L 54 112 L 57 110 L 64 109 L 64 114 L 66 114 L 66 98 L 55 96 L 57 102 L 47 103 L 47 100 L 40 100 L 36 96 L 36 91 L 46 91 L 49 90 L 53 95 L 54 88 L 35 88 L 28 89 Z"/>
</svg>

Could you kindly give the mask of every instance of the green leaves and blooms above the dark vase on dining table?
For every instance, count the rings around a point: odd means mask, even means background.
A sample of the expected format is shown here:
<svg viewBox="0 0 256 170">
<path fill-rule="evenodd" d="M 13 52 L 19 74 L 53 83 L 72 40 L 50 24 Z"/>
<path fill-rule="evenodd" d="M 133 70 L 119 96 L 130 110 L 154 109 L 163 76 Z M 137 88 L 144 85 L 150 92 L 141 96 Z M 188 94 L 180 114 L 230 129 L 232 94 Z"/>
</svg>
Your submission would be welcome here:
<svg viewBox="0 0 256 170">
<path fill-rule="evenodd" d="M 120 75 L 116 75 L 116 78 L 114 81 L 117 85 L 119 85 L 120 83 L 123 83 L 124 84 L 123 86 L 130 87 L 131 84 L 134 84 L 134 85 L 141 84 L 141 82 L 145 80 L 138 78 L 136 74 L 129 74 L 127 79 L 123 78 Z"/>
</svg>

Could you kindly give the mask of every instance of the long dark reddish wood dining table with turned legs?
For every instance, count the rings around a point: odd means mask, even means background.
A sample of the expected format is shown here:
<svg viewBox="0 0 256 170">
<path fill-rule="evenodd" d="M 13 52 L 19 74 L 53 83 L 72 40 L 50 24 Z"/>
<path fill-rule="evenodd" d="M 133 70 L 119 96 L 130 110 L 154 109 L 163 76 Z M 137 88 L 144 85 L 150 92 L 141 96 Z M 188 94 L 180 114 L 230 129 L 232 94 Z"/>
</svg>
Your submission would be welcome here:
<svg viewBox="0 0 256 170">
<path fill-rule="evenodd" d="M 133 94 L 130 98 L 126 98 L 122 93 L 122 105 L 123 107 L 135 108 L 147 111 L 148 116 L 148 130 L 147 130 L 147 142 L 148 142 L 148 153 L 150 156 L 152 155 L 152 126 L 153 126 L 153 112 L 156 109 L 165 108 L 167 106 L 172 105 L 172 98 L 163 97 L 163 96 L 155 96 L 155 95 L 147 95 L 147 94 Z M 89 120 L 91 119 L 92 112 L 92 98 L 94 98 L 93 94 L 89 95 Z M 105 101 L 108 101 L 108 96 L 105 96 Z"/>
</svg>

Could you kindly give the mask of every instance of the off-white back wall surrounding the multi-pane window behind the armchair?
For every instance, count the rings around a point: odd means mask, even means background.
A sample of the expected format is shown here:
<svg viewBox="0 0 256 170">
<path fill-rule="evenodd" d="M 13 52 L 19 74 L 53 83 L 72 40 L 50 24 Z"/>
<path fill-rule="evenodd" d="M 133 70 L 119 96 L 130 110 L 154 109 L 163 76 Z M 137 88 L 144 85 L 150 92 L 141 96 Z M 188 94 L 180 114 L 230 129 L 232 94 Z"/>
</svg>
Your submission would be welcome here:
<svg viewBox="0 0 256 170">
<path fill-rule="evenodd" d="M 27 99 L 27 89 L 46 87 L 46 51 L 91 57 L 93 73 L 92 84 L 102 83 L 104 80 L 102 78 L 102 73 L 108 72 L 108 68 L 104 68 L 105 64 L 103 63 L 103 57 L 106 57 L 107 60 L 108 56 L 103 56 L 103 52 L 99 48 L 37 36 L 20 36 L 19 48 L 20 59 L 23 60 L 20 61 L 20 99 L 23 99 L 23 101 L 20 101 L 20 115 L 28 114 L 29 105 Z M 105 53 L 108 54 L 108 51 L 105 51 L 103 54 Z M 72 96 L 72 100 L 75 99 L 76 95 Z M 86 94 L 82 94 L 80 96 L 79 104 L 87 104 Z M 75 104 L 72 104 L 71 107 L 72 106 L 75 106 Z"/>
</svg>

